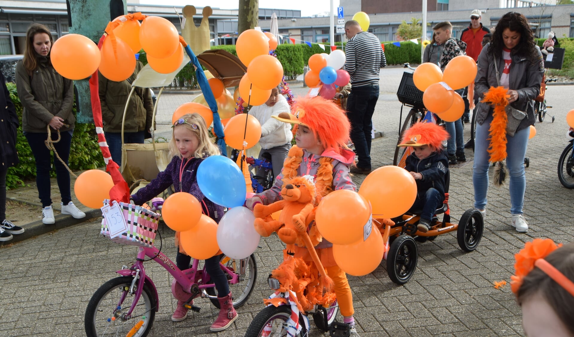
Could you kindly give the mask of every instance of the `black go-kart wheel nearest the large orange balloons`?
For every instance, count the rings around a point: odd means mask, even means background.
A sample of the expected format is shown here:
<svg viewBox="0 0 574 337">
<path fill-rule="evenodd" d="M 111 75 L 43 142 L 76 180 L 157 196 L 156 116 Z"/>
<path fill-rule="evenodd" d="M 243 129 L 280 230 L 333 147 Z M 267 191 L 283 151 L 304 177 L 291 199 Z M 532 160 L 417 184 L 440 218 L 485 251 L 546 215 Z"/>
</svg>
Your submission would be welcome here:
<svg viewBox="0 0 574 337">
<path fill-rule="evenodd" d="M 396 284 L 405 284 L 417 268 L 417 243 L 403 234 L 393 241 L 387 255 L 387 273 Z"/>
</svg>

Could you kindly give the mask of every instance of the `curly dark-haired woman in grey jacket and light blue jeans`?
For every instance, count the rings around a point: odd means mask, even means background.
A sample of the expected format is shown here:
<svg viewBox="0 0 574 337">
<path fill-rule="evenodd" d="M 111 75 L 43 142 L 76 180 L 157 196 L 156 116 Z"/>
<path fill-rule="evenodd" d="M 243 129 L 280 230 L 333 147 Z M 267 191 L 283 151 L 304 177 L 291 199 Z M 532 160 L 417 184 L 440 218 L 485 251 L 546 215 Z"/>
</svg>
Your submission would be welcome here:
<svg viewBox="0 0 574 337">
<path fill-rule="evenodd" d="M 499 77 L 494 68 L 497 62 Z M 511 226 L 518 232 L 528 231 L 528 223 L 522 216 L 526 176 L 524 156 L 528 145 L 530 125 L 534 125 L 533 100 L 540 93 L 544 63 L 542 53 L 534 44 L 528 21 L 520 13 L 503 15 L 492 34 L 492 42 L 486 45 L 478 57 L 478 73 L 475 79 L 475 98 L 482 100 L 491 86 L 505 86 L 510 105 L 526 113 L 514 136 L 506 136 L 506 164 L 510 173 Z M 493 108 L 479 102 L 476 111 L 476 138 L 472 183 L 474 206 L 482 215 L 486 213 L 488 190 L 488 158 L 490 146 L 488 129 L 492 122 Z"/>
</svg>

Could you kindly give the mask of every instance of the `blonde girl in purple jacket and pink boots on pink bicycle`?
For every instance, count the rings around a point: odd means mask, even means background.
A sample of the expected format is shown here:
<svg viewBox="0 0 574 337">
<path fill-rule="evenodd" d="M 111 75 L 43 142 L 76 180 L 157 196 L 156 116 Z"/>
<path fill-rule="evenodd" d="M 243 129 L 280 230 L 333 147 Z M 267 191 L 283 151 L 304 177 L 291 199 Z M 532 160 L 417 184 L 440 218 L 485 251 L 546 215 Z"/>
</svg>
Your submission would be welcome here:
<svg viewBox="0 0 574 337">
<path fill-rule="evenodd" d="M 172 139 L 169 142 L 169 149 L 173 154 L 172 161 L 156 179 L 131 195 L 131 199 L 134 204 L 142 205 L 173 184 L 176 192 L 187 192 L 196 197 L 201 204 L 202 213 L 219 223 L 223 216 L 223 207 L 207 199 L 201 193 L 196 180 L 197 167 L 201 161 L 208 156 L 220 154 L 219 149 L 210 141 L 207 126 L 200 114 L 186 114 L 177 120 L 172 128 Z M 176 232 L 176 247 L 178 247 L 176 264 L 177 268 L 184 271 L 189 269 L 191 256 L 188 256 L 179 244 L 179 237 L 180 232 Z M 232 305 L 228 280 L 220 268 L 218 255 L 205 260 L 205 270 L 215 283 L 220 304 L 219 316 L 212 324 L 211 331 L 223 331 L 237 319 L 237 312 Z M 172 315 L 174 322 L 187 318 L 188 309 L 183 306 L 184 304 L 184 301 L 177 301 L 177 308 Z"/>
</svg>

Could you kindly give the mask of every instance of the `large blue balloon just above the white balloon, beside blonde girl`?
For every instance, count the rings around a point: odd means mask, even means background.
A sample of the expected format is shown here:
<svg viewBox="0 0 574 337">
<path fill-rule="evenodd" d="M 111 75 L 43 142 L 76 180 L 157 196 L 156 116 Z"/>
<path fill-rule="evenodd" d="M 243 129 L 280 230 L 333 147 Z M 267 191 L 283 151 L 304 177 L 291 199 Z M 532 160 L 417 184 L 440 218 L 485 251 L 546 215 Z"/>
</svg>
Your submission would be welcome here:
<svg viewBox="0 0 574 337">
<path fill-rule="evenodd" d="M 230 158 L 210 156 L 197 168 L 197 185 L 207 199 L 231 208 L 245 203 L 245 177 Z"/>
</svg>

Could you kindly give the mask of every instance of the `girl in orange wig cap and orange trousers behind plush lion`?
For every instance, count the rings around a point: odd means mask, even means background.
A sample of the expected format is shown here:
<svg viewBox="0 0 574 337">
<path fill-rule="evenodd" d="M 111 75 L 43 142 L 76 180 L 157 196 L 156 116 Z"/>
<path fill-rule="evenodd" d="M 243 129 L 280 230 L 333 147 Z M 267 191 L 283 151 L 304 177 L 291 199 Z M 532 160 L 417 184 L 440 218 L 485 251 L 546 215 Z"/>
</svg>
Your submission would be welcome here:
<svg viewBox="0 0 574 337">
<path fill-rule="evenodd" d="M 335 102 L 322 97 L 298 98 L 291 113 L 280 113 L 279 116 L 273 116 L 273 118 L 294 124 L 297 145 L 289 150 L 281 175 L 277 177 L 275 185 L 247 199 L 245 204 L 248 208 L 253 209 L 257 203 L 269 205 L 281 200 L 283 180 L 296 176 L 311 175 L 315 178 L 316 205 L 319 204 L 321 197 L 336 189 L 356 191 L 356 185 L 349 175 L 349 166 L 354 162 L 355 153 L 344 148 L 349 140 L 351 126 L 345 113 Z M 319 234 L 314 225 L 308 232 L 312 240 L 317 239 Z M 353 318 L 351 288 L 347 282 L 347 275 L 335 263 L 332 246 L 332 243 L 322 239 L 315 249 L 327 274 L 335 283 L 334 290 L 339 310 L 343 315 L 344 323 L 351 326 L 350 336 L 358 337 Z M 304 251 L 307 249 L 298 249 L 296 256 L 311 260 L 310 257 L 308 259 L 304 256 Z M 302 256 L 298 256 L 300 252 Z"/>
</svg>

